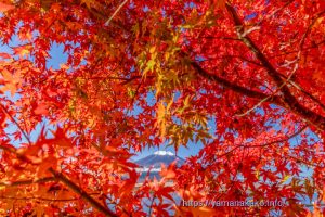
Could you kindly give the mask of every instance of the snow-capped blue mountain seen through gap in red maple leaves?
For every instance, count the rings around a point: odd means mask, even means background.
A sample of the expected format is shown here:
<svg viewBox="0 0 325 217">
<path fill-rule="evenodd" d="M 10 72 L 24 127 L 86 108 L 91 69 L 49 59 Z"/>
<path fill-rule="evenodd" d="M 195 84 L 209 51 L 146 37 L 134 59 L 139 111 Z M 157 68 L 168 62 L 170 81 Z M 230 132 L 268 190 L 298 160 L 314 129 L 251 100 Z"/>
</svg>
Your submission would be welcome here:
<svg viewBox="0 0 325 217">
<path fill-rule="evenodd" d="M 159 173 L 161 171 L 161 164 L 168 167 L 171 163 L 176 162 L 176 166 L 180 167 L 184 164 L 184 159 L 176 156 L 169 151 L 156 151 L 154 154 L 148 155 L 144 158 L 136 161 L 135 163 L 140 166 L 136 171 L 141 174 L 139 181 L 143 181 L 147 173 L 150 178 L 160 178 Z"/>
</svg>

